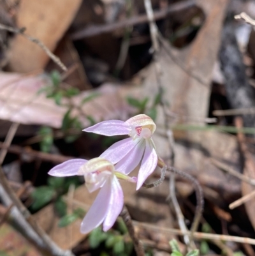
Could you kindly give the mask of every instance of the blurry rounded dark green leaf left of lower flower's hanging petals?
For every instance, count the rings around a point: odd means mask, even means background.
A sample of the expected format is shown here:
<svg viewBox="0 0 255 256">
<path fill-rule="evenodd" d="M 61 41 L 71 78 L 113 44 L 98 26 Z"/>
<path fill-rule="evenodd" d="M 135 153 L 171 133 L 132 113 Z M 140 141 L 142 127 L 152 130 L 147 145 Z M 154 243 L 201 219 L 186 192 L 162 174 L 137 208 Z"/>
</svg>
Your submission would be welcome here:
<svg viewBox="0 0 255 256">
<path fill-rule="evenodd" d="M 36 188 L 32 193 L 34 202 L 31 205 L 31 209 L 33 209 L 33 211 L 41 209 L 41 207 L 45 206 L 45 204 L 48 204 L 48 202 L 50 202 L 54 196 L 55 190 L 50 186 L 40 186 Z"/>
</svg>

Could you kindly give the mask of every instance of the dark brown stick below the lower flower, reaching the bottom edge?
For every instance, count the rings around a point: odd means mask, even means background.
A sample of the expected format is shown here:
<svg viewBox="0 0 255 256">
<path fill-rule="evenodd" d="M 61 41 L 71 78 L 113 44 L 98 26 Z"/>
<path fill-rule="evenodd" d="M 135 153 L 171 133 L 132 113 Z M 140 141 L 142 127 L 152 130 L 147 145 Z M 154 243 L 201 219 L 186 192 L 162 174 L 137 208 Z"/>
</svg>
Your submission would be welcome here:
<svg viewBox="0 0 255 256">
<path fill-rule="evenodd" d="M 129 236 L 131 237 L 136 255 L 137 256 L 145 256 L 145 252 L 143 250 L 143 245 L 139 241 L 138 237 L 136 236 L 135 229 L 133 227 L 133 223 L 131 220 L 131 216 L 129 215 L 128 209 L 126 206 L 123 207 L 122 212 L 120 213 L 120 216 L 122 217 L 122 220 L 126 223 L 126 226 L 128 228 Z"/>
</svg>

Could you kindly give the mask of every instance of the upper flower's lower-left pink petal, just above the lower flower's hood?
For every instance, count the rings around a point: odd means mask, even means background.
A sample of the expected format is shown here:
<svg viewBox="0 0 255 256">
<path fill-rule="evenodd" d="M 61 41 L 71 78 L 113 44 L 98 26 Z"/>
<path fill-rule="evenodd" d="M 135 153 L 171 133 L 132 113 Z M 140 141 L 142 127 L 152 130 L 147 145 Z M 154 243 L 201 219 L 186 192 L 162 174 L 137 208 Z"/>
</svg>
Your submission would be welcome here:
<svg viewBox="0 0 255 256">
<path fill-rule="evenodd" d="M 124 156 L 126 156 L 138 142 L 139 139 L 133 140 L 132 138 L 120 140 L 108 147 L 100 157 L 105 158 L 114 165 L 124 158 Z"/>
</svg>

